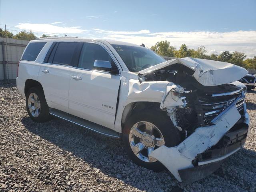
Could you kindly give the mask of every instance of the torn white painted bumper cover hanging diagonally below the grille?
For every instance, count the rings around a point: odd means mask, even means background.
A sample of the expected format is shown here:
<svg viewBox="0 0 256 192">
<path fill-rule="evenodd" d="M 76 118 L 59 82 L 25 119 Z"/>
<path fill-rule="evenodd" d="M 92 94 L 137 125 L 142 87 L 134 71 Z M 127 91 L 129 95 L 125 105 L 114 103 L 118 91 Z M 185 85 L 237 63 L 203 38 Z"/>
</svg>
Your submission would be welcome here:
<svg viewBox="0 0 256 192">
<path fill-rule="evenodd" d="M 214 125 L 199 127 L 178 146 L 161 146 L 150 156 L 164 164 L 174 177 L 182 182 L 178 170 L 193 168 L 192 160 L 196 155 L 215 145 L 240 117 L 236 105 L 233 104 Z"/>
</svg>

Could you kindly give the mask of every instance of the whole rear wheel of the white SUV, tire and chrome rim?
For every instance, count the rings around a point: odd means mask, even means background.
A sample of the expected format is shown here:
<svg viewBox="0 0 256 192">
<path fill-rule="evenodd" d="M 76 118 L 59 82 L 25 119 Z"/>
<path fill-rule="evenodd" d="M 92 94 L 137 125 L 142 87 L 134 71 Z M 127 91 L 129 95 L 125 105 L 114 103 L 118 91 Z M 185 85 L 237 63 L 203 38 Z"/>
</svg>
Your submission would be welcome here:
<svg viewBox="0 0 256 192">
<path fill-rule="evenodd" d="M 32 87 L 26 93 L 26 108 L 30 118 L 36 122 L 51 119 L 44 92 L 40 87 Z"/>
</svg>

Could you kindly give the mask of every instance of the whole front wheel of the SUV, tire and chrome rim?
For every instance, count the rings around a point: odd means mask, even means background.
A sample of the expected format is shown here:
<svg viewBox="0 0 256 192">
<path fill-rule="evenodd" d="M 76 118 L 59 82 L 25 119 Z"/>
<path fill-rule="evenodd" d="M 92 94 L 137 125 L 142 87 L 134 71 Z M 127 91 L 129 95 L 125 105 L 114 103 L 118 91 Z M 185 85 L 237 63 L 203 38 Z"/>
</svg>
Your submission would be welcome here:
<svg viewBox="0 0 256 192">
<path fill-rule="evenodd" d="M 149 154 L 162 145 L 176 146 L 180 134 L 166 112 L 146 110 L 132 114 L 123 130 L 124 147 L 128 156 L 138 165 L 154 171 L 164 166 Z"/>
</svg>

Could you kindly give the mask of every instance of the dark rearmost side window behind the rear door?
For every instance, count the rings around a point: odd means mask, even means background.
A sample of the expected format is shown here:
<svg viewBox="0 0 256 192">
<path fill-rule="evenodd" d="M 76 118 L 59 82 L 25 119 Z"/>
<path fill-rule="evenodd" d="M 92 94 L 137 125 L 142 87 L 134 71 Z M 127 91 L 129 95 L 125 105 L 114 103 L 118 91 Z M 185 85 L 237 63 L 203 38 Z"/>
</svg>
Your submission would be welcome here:
<svg viewBox="0 0 256 192">
<path fill-rule="evenodd" d="M 26 60 L 26 61 L 34 61 L 36 60 L 38 54 L 44 47 L 46 42 L 38 42 L 38 43 L 30 43 L 28 44 L 21 60 Z"/>
</svg>

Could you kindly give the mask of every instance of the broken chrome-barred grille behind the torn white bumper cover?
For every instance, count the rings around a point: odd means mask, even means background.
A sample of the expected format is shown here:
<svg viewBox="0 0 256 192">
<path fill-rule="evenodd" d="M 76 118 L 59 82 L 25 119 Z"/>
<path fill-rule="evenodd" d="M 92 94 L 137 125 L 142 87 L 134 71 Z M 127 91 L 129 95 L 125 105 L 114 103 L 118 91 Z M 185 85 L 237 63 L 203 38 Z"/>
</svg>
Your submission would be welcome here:
<svg viewBox="0 0 256 192">
<path fill-rule="evenodd" d="M 202 105 L 206 124 L 210 124 L 212 119 L 230 106 L 238 97 L 242 97 L 242 88 L 234 92 L 206 94 L 205 100 L 199 100 Z M 240 113 L 243 112 L 243 104 L 244 97 L 236 102 L 236 108 Z"/>
</svg>

